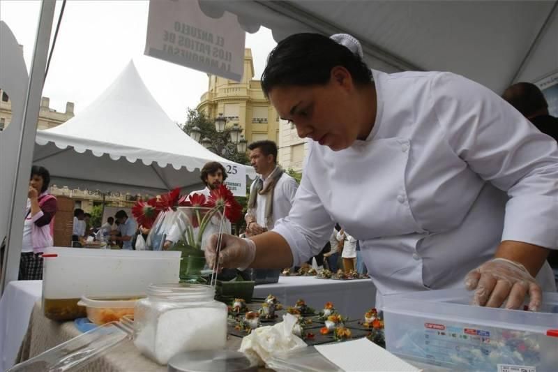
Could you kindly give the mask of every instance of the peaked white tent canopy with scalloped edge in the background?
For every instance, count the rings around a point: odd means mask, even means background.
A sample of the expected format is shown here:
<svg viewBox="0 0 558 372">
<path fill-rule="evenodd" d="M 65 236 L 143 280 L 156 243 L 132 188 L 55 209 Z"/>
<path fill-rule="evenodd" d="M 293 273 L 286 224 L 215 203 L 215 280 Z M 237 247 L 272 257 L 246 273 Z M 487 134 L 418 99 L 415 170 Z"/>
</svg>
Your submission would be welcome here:
<svg viewBox="0 0 558 372">
<path fill-rule="evenodd" d="M 50 171 L 51 184 L 130 193 L 199 188 L 208 161 L 235 164 L 169 119 L 132 61 L 79 115 L 38 131 L 33 154 L 33 164 Z M 246 174 L 255 177 L 251 167 Z"/>
</svg>

